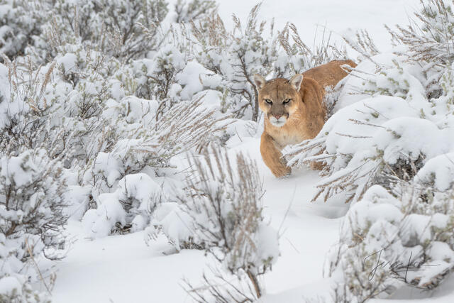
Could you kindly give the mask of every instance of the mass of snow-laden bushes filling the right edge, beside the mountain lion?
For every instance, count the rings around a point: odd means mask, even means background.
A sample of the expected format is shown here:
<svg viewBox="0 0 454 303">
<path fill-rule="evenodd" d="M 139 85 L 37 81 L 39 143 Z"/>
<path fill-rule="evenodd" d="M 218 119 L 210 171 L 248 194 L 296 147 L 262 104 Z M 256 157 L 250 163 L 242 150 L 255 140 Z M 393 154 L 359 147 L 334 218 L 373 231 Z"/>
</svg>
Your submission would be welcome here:
<svg viewBox="0 0 454 303">
<path fill-rule="evenodd" d="M 324 163 L 313 200 L 352 204 L 327 260 L 336 302 L 431 290 L 454 270 L 454 78 L 441 29 L 453 18 L 445 1 L 421 2 L 421 32 L 399 26 L 395 53 L 378 53 L 367 33 L 348 42 L 362 61 L 335 113 L 287 153 L 292 165 Z"/>
</svg>

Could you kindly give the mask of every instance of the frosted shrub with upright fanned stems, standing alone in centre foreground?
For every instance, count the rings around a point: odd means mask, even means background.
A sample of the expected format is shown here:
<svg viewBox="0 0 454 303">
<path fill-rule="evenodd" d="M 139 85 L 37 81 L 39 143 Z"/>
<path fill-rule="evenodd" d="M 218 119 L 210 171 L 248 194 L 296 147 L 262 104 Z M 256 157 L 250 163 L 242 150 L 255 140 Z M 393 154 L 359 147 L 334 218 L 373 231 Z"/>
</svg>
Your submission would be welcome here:
<svg viewBox="0 0 454 303">
<path fill-rule="evenodd" d="M 248 296 L 260 297 L 258 276 L 270 270 L 279 248 L 277 231 L 262 216 L 263 191 L 255 163 L 242 154 L 229 158 L 226 151 L 214 148 L 203 160 L 190 158 L 189 165 L 194 171 L 187 175 L 179 204 L 158 206 L 158 216 L 148 228 L 150 237 L 162 232 L 177 249 L 205 249 L 232 275 L 246 275 L 253 286 Z M 225 292 L 206 282 L 208 291 L 194 289 L 194 297 L 216 298 L 216 290 Z M 243 296 L 234 289 L 225 295 Z"/>
</svg>

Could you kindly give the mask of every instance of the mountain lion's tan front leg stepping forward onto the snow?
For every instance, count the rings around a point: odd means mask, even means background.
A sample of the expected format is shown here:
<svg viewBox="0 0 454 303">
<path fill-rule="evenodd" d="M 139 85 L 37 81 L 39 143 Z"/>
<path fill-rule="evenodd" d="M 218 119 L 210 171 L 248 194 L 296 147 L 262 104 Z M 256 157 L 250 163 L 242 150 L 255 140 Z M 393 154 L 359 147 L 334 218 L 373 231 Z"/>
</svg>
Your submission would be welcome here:
<svg viewBox="0 0 454 303">
<path fill-rule="evenodd" d="M 260 153 L 262 153 L 263 162 L 270 168 L 273 175 L 284 177 L 290 175 L 292 169 L 287 167 L 287 162 L 282 158 L 282 153 L 279 149 L 277 143 L 270 135 L 262 133 Z"/>
</svg>

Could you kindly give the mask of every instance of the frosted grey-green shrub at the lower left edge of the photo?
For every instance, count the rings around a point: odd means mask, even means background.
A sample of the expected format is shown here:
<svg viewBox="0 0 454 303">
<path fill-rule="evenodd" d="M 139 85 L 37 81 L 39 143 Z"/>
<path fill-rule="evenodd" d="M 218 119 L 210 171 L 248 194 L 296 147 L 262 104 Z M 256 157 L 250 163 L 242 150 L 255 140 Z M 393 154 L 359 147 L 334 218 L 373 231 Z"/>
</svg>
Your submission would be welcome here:
<svg viewBox="0 0 454 303">
<path fill-rule="evenodd" d="M 65 249 L 67 177 L 62 159 L 48 155 L 45 145 L 0 153 L 0 298 L 11 299 L 5 302 L 46 302 L 28 283 L 49 290 L 55 277 L 45 258 L 61 258 Z"/>
</svg>

